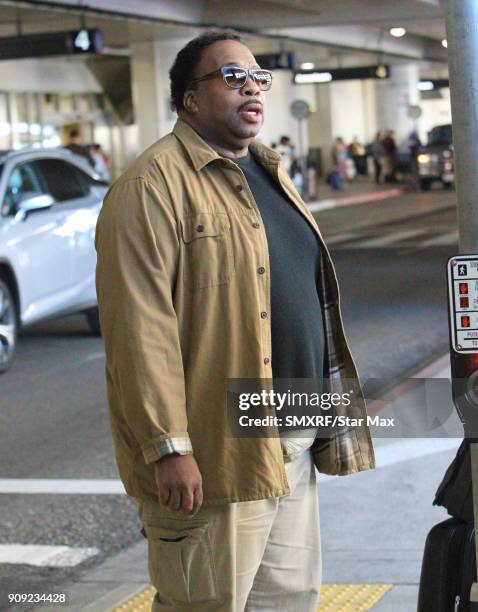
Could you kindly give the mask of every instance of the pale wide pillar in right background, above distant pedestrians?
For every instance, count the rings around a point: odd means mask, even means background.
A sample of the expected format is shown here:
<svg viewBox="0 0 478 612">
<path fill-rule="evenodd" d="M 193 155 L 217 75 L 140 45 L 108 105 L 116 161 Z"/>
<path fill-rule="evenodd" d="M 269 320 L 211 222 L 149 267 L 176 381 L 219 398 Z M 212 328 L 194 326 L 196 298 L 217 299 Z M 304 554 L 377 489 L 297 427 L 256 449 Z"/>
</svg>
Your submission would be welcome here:
<svg viewBox="0 0 478 612">
<path fill-rule="evenodd" d="M 375 81 L 377 130 L 393 129 L 397 145 L 403 146 L 410 132 L 417 128 L 409 117 L 410 105 L 418 105 L 418 64 L 399 64 L 391 67 L 391 78 Z"/>
</svg>

